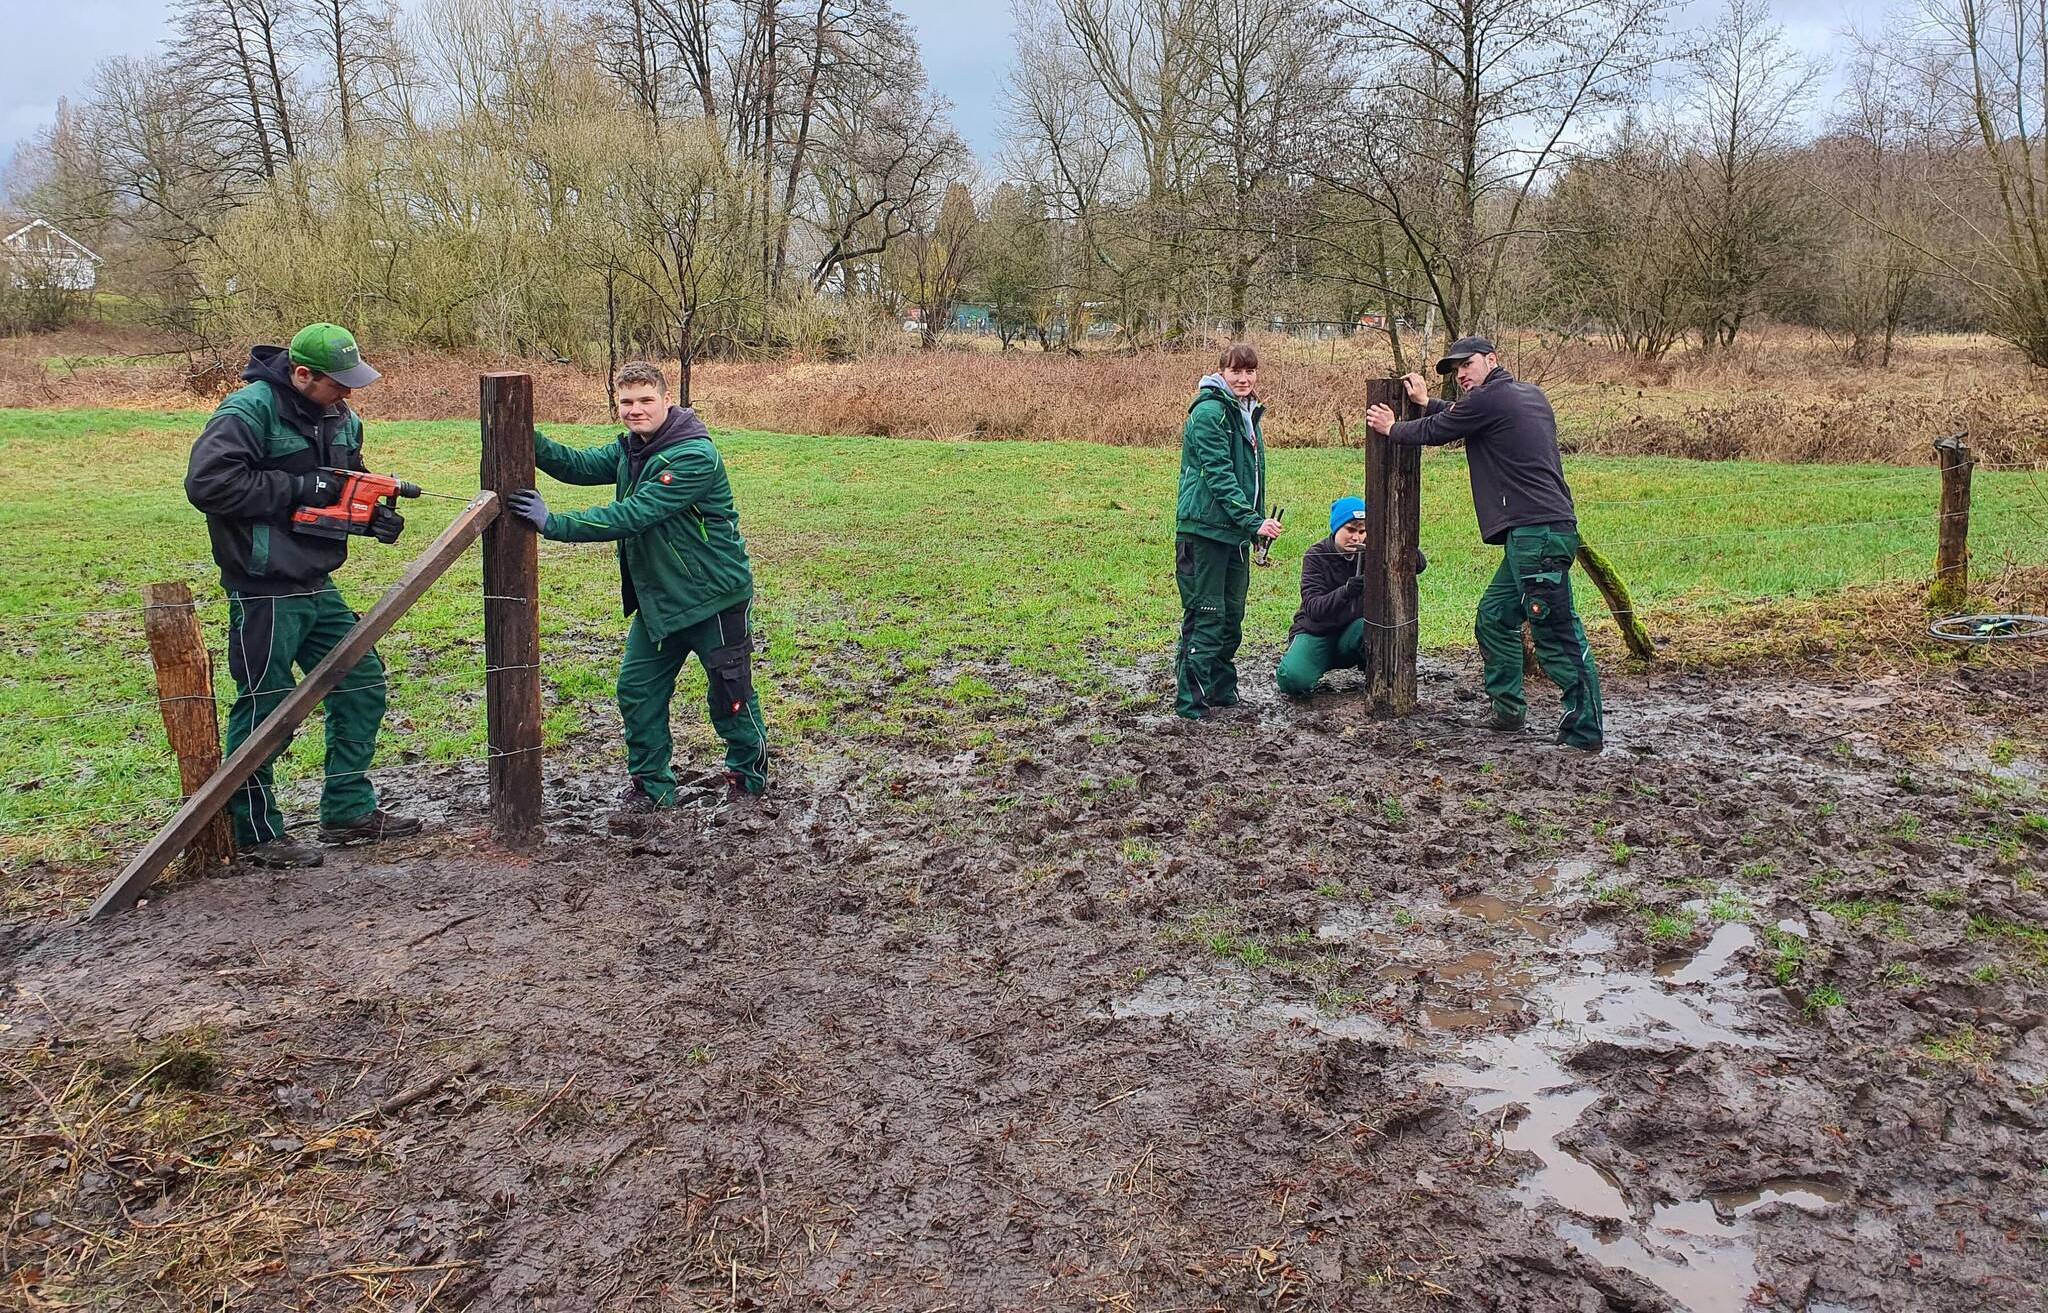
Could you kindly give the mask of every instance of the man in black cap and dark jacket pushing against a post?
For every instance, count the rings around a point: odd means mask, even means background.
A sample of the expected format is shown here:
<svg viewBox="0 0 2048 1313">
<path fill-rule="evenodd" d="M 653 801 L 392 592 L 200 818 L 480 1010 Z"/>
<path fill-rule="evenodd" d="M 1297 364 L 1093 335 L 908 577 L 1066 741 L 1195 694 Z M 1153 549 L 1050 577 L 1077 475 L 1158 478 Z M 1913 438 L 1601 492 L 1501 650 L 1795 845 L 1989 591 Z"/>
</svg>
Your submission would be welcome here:
<svg viewBox="0 0 2048 1313">
<path fill-rule="evenodd" d="M 1499 352 L 1485 338 L 1452 342 L 1436 373 L 1458 375 L 1458 401 L 1430 399 L 1421 375 L 1407 375 L 1403 385 L 1409 399 L 1423 406 L 1423 416 L 1397 424 L 1393 410 L 1374 406 L 1366 424 L 1395 442 L 1464 442 L 1479 537 L 1505 549 L 1501 567 L 1479 596 L 1473 627 L 1493 701 L 1481 725 L 1511 733 L 1528 721 L 1522 698 L 1522 623 L 1528 621 L 1536 660 L 1565 694 L 1556 742 L 1599 752 L 1606 739 L 1599 674 L 1585 625 L 1571 606 L 1579 518 L 1565 488 L 1550 399 L 1501 369 Z"/>
</svg>

